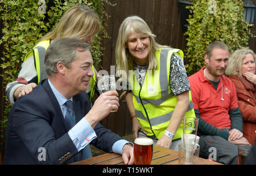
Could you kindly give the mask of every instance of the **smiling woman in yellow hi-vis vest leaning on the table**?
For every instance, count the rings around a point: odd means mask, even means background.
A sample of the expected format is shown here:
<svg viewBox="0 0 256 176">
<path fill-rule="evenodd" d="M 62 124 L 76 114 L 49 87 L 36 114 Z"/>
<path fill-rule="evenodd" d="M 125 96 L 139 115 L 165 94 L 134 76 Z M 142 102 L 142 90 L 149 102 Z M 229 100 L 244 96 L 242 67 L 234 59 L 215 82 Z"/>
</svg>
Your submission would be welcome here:
<svg viewBox="0 0 256 176">
<path fill-rule="evenodd" d="M 134 138 L 177 150 L 183 117 L 195 117 L 183 51 L 159 45 L 146 22 L 130 16 L 119 28 L 115 59 Z"/>
</svg>

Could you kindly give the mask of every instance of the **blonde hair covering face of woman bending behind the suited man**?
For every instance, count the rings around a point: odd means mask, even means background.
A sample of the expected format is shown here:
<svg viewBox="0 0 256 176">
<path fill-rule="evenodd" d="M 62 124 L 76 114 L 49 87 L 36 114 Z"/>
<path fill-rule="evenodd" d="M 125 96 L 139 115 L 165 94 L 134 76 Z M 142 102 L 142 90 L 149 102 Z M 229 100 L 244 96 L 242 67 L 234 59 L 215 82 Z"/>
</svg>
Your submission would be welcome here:
<svg viewBox="0 0 256 176">
<path fill-rule="evenodd" d="M 47 33 L 40 41 L 62 37 L 75 37 L 82 40 L 96 35 L 100 27 L 100 18 L 92 9 L 85 5 L 76 5 L 69 8 L 53 31 Z"/>
</svg>

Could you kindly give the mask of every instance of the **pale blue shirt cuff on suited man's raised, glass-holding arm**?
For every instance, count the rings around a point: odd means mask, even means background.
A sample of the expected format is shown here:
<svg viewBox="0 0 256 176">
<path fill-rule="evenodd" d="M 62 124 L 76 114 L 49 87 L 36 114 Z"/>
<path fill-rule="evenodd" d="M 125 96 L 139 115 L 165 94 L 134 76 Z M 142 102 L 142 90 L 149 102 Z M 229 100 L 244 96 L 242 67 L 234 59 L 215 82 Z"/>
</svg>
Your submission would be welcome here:
<svg viewBox="0 0 256 176">
<path fill-rule="evenodd" d="M 93 139 L 97 138 L 95 131 L 85 118 L 82 118 L 81 121 L 73 126 L 68 135 L 76 146 L 77 151 L 81 151 Z"/>
</svg>

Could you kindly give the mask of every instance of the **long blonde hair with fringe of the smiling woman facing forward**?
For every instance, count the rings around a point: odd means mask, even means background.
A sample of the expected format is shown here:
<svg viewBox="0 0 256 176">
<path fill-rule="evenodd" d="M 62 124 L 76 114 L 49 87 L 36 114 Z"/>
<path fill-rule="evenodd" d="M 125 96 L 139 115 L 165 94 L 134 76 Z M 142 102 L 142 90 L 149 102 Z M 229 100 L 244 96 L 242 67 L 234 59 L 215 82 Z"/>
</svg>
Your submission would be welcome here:
<svg viewBox="0 0 256 176">
<path fill-rule="evenodd" d="M 129 50 L 126 48 L 126 42 L 130 35 L 130 32 L 137 33 L 144 37 L 150 38 L 150 53 L 148 53 L 148 70 L 155 70 L 157 61 L 155 58 L 155 50 L 161 48 L 168 48 L 168 46 L 163 46 L 155 41 L 155 35 L 151 32 L 147 23 L 144 22 L 139 16 L 129 16 L 123 20 L 120 25 L 117 43 L 115 45 L 115 61 L 117 63 L 117 71 L 119 71 L 119 76 L 128 75 L 129 70 L 134 70 L 133 61 L 134 57 L 130 54 Z M 122 75 L 121 71 L 125 71 L 126 75 Z M 122 80 L 127 80 L 123 78 Z"/>
</svg>

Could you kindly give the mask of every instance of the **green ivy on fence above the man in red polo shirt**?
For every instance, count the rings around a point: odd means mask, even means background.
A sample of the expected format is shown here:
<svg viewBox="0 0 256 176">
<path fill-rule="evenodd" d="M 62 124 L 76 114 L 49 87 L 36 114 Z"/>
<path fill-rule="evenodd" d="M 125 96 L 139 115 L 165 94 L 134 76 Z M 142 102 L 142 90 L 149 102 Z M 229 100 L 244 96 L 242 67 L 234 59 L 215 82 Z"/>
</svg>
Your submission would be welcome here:
<svg viewBox="0 0 256 176">
<path fill-rule="evenodd" d="M 224 42 L 232 53 L 247 48 L 251 32 L 243 18 L 242 0 L 191 0 L 187 36 L 187 74 L 192 75 L 205 65 L 204 54 L 214 40 Z"/>
</svg>

